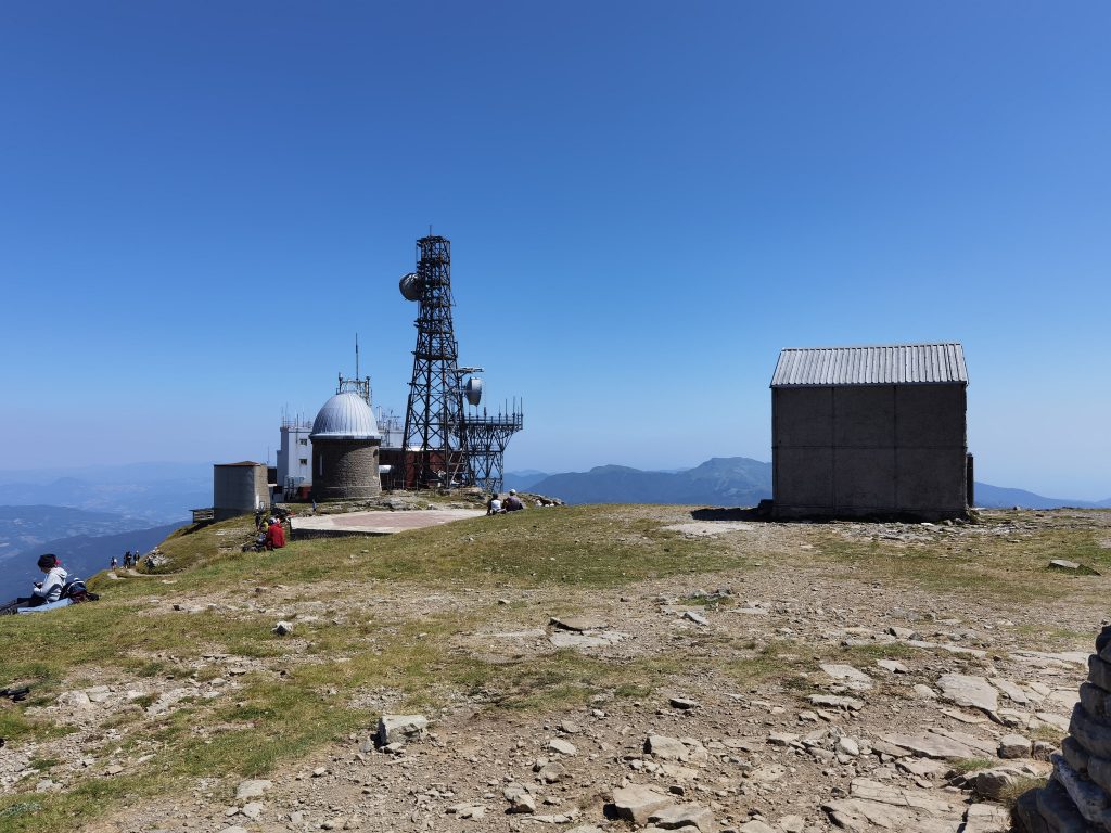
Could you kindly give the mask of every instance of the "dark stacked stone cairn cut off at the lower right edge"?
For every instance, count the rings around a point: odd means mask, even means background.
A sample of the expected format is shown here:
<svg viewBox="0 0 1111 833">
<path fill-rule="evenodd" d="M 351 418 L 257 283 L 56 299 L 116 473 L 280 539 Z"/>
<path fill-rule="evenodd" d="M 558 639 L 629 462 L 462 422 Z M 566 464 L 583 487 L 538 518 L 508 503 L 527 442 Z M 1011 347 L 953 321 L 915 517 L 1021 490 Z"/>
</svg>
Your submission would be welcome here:
<svg viewBox="0 0 1111 833">
<path fill-rule="evenodd" d="M 1025 833 L 1111 833 L 1111 625 L 1088 658 L 1088 682 L 1072 710 L 1069 736 L 1052 756 L 1049 783 L 1019 797 Z"/>
</svg>

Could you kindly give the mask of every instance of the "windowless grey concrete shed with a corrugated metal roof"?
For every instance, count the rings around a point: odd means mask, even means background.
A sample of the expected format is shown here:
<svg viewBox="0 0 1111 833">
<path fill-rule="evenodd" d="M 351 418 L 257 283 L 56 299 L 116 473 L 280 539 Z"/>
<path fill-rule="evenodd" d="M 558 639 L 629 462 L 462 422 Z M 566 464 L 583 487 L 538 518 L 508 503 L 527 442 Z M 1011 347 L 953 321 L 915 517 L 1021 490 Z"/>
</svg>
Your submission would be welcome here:
<svg viewBox="0 0 1111 833">
<path fill-rule="evenodd" d="M 965 515 L 967 388 L 957 343 L 783 350 L 771 382 L 773 515 Z"/>
</svg>

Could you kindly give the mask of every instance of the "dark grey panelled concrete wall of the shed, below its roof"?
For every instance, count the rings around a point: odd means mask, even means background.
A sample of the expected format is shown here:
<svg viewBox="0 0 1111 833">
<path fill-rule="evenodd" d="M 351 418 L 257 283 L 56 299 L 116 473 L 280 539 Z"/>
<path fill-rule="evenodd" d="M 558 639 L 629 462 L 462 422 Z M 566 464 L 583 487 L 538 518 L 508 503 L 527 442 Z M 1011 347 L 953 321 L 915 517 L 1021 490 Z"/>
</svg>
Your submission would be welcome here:
<svg viewBox="0 0 1111 833">
<path fill-rule="evenodd" d="M 965 514 L 964 384 L 772 389 L 774 513 Z"/>
</svg>

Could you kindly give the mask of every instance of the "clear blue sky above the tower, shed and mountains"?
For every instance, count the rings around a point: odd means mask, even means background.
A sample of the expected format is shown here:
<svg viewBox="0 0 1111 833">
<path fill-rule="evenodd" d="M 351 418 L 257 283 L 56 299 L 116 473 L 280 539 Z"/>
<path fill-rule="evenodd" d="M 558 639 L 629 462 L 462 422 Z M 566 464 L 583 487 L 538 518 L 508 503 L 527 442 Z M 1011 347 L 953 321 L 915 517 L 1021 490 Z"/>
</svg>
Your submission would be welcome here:
<svg viewBox="0 0 1111 833">
<path fill-rule="evenodd" d="M 0 7 L 0 468 L 261 459 L 414 240 L 507 466 L 769 460 L 784 347 L 961 341 L 980 480 L 1111 496 L 1111 7 Z"/>
</svg>

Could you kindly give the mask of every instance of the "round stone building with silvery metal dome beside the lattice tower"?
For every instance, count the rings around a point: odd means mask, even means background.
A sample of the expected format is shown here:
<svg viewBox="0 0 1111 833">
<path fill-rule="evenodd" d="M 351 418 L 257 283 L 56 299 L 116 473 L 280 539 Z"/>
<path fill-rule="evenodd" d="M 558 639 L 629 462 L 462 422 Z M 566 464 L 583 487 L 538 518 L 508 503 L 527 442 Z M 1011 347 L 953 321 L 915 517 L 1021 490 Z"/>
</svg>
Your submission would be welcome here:
<svg viewBox="0 0 1111 833">
<path fill-rule="evenodd" d="M 312 423 L 312 491 L 318 501 L 374 498 L 382 492 L 382 435 L 367 401 L 344 391 L 324 402 Z"/>
</svg>

